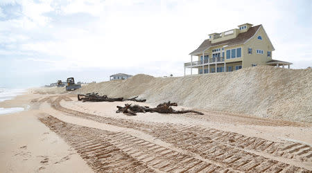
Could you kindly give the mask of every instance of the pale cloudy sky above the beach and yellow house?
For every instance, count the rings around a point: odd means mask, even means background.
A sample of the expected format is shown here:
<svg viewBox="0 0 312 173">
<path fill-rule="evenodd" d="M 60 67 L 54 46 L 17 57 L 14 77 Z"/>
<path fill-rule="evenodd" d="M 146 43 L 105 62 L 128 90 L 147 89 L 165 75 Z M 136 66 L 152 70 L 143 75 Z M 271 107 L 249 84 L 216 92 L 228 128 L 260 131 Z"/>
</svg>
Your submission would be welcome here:
<svg viewBox="0 0 312 173">
<path fill-rule="evenodd" d="M 312 1 L 0 0 L 0 87 L 114 73 L 184 75 L 189 53 L 240 24 L 262 24 L 272 58 L 312 66 Z"/>
</svg>

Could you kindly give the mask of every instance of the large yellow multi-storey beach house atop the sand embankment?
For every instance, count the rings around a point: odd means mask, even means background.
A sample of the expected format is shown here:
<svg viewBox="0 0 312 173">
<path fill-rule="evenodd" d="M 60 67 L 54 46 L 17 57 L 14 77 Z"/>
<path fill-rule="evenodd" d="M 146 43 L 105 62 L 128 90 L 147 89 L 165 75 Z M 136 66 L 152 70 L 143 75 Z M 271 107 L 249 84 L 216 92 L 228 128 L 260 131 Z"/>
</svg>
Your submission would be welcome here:
<svg viewBox="0 0 312 173">
<path fill-rule="evenodd" d="M 239 28 L 222 33 L 212 33 L 209 39 L 189 55 L 187 68 L 198 69 L 198 74 L 236 71 L 249 66 L 291 66 L 291 62 L 272 60 L 275 51 L 262 25 L 242 24 Z M 193 61 L 195 59 L 196 61 Z"/>
</svg>

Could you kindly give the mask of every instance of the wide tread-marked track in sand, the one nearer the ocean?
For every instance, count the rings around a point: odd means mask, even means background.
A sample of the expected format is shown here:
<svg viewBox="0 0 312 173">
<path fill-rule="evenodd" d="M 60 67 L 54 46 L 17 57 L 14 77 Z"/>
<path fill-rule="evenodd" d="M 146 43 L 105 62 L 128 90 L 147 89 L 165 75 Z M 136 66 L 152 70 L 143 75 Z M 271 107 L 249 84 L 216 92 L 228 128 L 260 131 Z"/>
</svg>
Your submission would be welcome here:
<svg viewBox="0 0 312 173">
<path fill-rule="evenodd" d="M 95 172 L 229 171 L 226 167 L 201 161 L 129 134 L 73 125 L 52 116 L 39 119 L 73 146 Z"/>
</svg>

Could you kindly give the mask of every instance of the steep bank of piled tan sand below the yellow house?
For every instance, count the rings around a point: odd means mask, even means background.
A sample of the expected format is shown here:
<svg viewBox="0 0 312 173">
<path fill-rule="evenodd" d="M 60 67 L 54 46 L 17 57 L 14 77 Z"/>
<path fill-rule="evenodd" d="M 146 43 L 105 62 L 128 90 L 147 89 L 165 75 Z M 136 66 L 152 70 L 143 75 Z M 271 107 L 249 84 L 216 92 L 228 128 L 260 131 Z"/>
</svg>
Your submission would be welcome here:
<svg viewBox="0 0 312 173">
<path fill-rule="evenodd" d="M 139 95 L 155 104 L 171 100 L 187 107 L 312 122 L 312 69 L 257 66 L 177 78 L 140 74 L 73 91 L 89 92 L 125 98 Z"/>
</svg>

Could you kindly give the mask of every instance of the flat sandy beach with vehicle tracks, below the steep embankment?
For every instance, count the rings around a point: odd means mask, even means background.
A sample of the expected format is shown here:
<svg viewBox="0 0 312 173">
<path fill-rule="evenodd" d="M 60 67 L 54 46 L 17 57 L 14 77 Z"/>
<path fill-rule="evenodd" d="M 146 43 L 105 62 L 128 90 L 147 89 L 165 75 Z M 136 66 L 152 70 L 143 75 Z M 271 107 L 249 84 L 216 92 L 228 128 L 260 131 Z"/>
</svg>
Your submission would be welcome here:
<svg viewBox="0 0 312 173">
<path fill-rule="evenodd" d="M 80 102 L 76 94 L 32 90 L 0 102 L 29 105 L 0 116 L 0 172 L 312 170 L 309 122 L 207 109 L 196 109 L 203 116 L 116 113 L 125 103 Z"/>
</svg>

